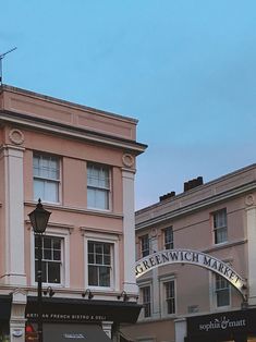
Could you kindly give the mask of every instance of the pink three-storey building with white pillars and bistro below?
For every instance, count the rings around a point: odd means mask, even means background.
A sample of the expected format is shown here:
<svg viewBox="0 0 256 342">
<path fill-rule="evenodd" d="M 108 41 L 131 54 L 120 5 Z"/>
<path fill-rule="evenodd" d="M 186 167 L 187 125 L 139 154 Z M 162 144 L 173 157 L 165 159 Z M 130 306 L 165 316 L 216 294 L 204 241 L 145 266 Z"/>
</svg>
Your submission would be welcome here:
<svg viewBox="0 0 256 342">
<path fill-rule="evenodd" d="M 119 341 L 120 325 L 136 321 L 134 176 L 146 148 L 136 124 L 1 86 L 0 341 L 32 341 L 36 331 L 38 242 L 28 213 L 38 198 L 51 211 L 42 237 L 45 341 L 62 329 L 69 341 L 84 331 Z"/>
</svg>

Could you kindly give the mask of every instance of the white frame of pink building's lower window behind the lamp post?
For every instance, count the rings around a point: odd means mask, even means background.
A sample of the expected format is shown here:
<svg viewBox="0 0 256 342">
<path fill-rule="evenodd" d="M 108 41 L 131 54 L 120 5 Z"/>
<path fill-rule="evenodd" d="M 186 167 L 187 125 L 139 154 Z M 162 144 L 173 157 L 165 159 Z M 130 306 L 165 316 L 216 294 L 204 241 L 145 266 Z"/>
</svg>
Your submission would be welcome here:
<svg viewBox="0 0 256 342">
<path fill-rule="evenodd" d="M 70 288 L 70 230 L 66 228 L 47 227 L 44 236 L 60 237 L 61 241 L 61 283 L 42 283 L 45 286 Z M 35 234 L 31 229 L 31 283 L 37 285 L 35 281 Z"/>
</svg>

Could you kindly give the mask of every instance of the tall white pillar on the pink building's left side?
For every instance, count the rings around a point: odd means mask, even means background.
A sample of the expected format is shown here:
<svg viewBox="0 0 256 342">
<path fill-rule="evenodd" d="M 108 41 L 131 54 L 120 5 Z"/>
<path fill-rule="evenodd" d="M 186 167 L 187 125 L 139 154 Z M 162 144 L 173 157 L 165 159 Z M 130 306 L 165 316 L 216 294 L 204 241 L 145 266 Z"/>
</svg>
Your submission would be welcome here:
<svg viewBox="0 0 256 342">
<path fill-rule="evenodd" d="M 4 159 L 4 231 L 5 231 L 5 272 L 4 283 L 26 284 L 24 255 L 24 190 L 23 190 L 24 148 L 3 147 Z"/>
</svg>

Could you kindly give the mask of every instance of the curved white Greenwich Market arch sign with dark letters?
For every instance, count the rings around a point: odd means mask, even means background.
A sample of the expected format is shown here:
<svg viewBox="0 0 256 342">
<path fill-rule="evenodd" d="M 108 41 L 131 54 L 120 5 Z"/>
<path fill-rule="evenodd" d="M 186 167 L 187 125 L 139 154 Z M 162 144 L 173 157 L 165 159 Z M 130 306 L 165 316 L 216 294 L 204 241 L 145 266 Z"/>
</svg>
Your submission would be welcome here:
<svg viewBox="0 0 256 342">
<path fill-rule="evenodd" d="M 211 255 L 191 249 L 164 249 L 144 257 L 135 265 L 136 278 L 142 277 L 158 266 L 168 264 L 192 264 L 207 268 L 227 279 L 245 298 L 245 280 L 235 270 Z"/>
</svg>

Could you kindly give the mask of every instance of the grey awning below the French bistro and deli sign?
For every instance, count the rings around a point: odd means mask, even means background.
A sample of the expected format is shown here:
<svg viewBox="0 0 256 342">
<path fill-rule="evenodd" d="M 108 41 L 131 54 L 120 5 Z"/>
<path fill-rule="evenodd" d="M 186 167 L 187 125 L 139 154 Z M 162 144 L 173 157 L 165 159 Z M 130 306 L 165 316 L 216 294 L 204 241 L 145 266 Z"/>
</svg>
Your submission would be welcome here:
<svg viewBox="0 0 256 342">
<path fill-rule="evenodd" d="M 44 325 L 44 342 L 110 342 L 97 325 Z"/>
</svg>

